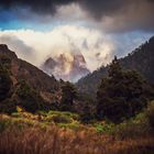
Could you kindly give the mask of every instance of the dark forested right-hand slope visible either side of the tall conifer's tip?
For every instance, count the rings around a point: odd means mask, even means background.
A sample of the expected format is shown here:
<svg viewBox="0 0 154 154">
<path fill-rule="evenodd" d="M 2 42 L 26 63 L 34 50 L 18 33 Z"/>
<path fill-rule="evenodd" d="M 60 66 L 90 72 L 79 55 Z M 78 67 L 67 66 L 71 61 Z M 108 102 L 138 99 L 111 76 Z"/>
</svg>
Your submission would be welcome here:
<svg viewBox="0 0 154 154">
<path fill-rule="evenodd" d="M 151 84 L 154 84 L 154 36 L 119 61 L 123 69 L 135 69 Z M 107 76 L 108 66 L 102 66 L 98 70 L 79 79 L 76 84 L 78 89 L 82 92 L 94 94 L 95 96 L 101 78 Z"/>
</svg>

